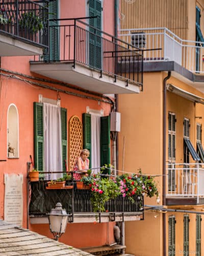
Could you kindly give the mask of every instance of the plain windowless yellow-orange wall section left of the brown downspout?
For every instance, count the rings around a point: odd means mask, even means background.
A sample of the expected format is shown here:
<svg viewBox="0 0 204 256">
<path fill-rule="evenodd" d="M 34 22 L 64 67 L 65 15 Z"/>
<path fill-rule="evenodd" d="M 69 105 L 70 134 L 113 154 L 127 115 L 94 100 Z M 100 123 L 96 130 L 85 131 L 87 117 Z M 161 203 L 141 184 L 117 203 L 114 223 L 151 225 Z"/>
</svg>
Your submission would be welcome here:
<svg viewBox="0 0 204 256">
<path fill-rule="evenodd" d="M 162 81 L 162 73 L 148 73 L 144 75 L 141 94 L 119 95 L 119 169 L 124 158 L 125 172 L 137 173 L 141 168 L 144 174 L 162 173 Z M 161 193 L 162 177 L 157 181 Z M 145 198 L 144 203 L 156 205 L 156 198 Z M 145 213 L 144 218 L 125 222 L 126 251 L 135 255 L 162 255 L 162 219 L 154 218 L 151 213 Z"/>
</svg>

